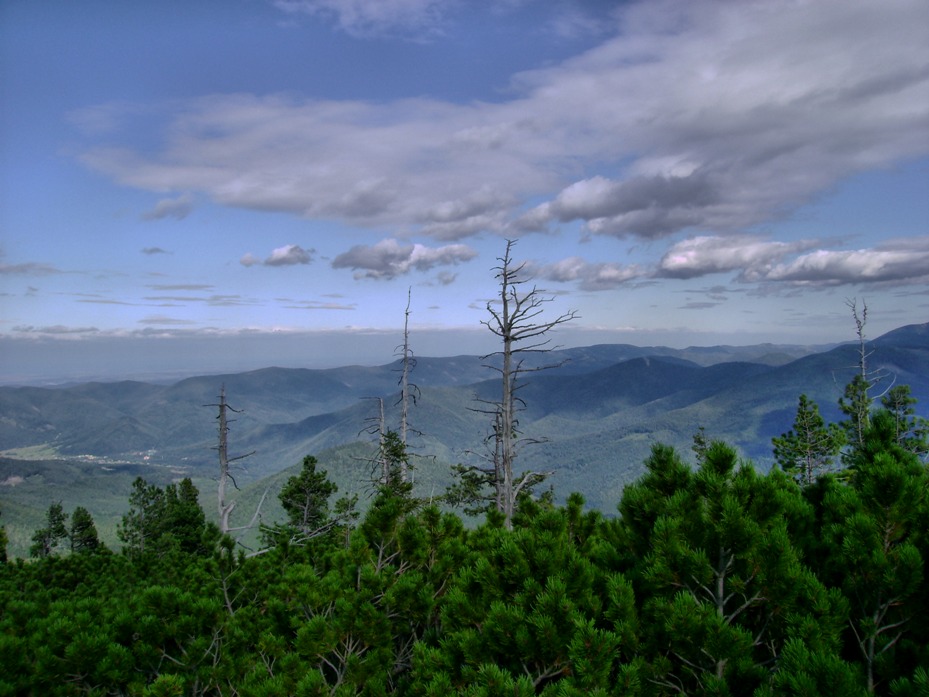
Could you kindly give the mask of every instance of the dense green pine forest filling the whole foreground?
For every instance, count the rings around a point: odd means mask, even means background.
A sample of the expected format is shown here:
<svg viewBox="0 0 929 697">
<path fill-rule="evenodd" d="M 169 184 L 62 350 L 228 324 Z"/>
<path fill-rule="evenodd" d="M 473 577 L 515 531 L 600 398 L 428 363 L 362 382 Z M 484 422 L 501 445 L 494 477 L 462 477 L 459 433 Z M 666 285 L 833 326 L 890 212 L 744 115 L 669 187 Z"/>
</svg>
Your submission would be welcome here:
<svg viewBox="0 0 929 697">
<path fill-rule="evenodd" d="M 417 499 L 389 431 L 363 515 L 307 456 L 252 550 L 189 480 L 136 480 L 119 551 L 53 503 L 0 564 L 0 695 L 925 696 L 926 423 L 867 390 L 838 424 L 801 397 L 767 474 L 656 445 L 615 515 Z"/>
</svg>

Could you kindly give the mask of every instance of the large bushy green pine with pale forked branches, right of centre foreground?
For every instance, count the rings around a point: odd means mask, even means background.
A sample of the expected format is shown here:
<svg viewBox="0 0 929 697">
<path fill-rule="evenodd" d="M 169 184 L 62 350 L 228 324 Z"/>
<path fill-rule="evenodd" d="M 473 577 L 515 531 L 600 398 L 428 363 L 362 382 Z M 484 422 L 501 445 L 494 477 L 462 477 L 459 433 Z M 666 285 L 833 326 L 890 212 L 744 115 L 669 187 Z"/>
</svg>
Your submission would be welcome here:
<svg viewBox="0 0 929 697">
<path fill-rule="evenodd" d="M 803 592 L 816 591 L 835 614 L 791 535 L 809 507 L 779 471 L 762 476 L 720 442 L 694 474 L 661 446 L 648 468 L 627 487 L 617 537 L 635 560 L 649 680 L 675 694 L 750 694 L 765 684 L 792 617 L 815 611 Z"/>
</svg>

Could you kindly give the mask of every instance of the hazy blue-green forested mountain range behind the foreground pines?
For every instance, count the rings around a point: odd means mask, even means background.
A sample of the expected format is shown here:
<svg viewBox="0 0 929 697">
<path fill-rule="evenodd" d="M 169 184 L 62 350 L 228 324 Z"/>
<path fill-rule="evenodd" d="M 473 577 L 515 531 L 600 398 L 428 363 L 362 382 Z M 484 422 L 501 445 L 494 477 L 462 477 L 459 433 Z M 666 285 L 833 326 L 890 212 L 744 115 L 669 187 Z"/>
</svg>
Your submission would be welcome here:
<svg viewBox="0 0 929 697">
<path fill-rule="evenodd" d="M 610 511 L 622 487 L 641 474 L 653 443 L 689 456 L 701 427 L 767 467 L 771 438 L 790 428 L 801 393 L 815 399 L 827 419 L 839 419 L 837 401 L 856 370 L 857 350 L 853 343 L 820 350 L 610 344 L 530 354 L 533 365 L 557 367 L 527 373 L 523 381 L 520 429 L 540 442 L 524 448 L 519 466 L 554 471 L 559 498 L 580 491 L 592 506 Z M 929 323 L 869 341 L 868 351 L 869 369 L 884 376 L 882 384 L 910 385 L 920 413 L 929 413 Z M 490 417 L 476 400 L 493 400 L 499 392 L 496 373 L 485 363 L 476 356 L 416 359 L 411 379 L 419 396 L 410 422 L 419 435 L 411 446 L 422 456 L 418 476 L 433 488 L 447 481 L 450 463 L 475 461 L 483 451 Z M 384 401 L 388 426 L 395 426 L 399 371 L 395 362 L 266 368 L 171 385 L 0 387 L 0 484 L 20 476 L 16 463 L 27 458 L 79 456 L 103 468 L 124 462 L 208 480 L 215 470 L 217 410 L 205 405 L 216 404 L 223 387 L 229 404 L 241 410 L 231 424 L 230 449 L 256 452 L 245 476 L 259 480 L 306 454 L 370 442 L 365 429 L 378 413 L 376 398 Z M 9 507 L 15 490 L 0 486 L 0 506 Z"/>
</svg>

